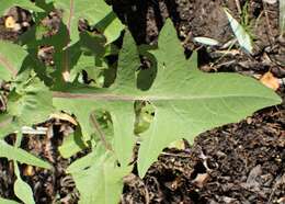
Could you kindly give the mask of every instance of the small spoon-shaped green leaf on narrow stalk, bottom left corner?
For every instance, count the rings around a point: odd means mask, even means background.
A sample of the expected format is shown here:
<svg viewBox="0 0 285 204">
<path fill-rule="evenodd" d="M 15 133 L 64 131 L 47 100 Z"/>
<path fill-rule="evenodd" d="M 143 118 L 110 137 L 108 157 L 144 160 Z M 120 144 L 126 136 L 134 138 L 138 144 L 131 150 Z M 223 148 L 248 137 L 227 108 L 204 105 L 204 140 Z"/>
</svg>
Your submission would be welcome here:
<svg viewBox="0 0 285 204">
<path fill-rule="evenodd" d="M 16 175 L 14 182 L 15 195 L 24 203 L 34 204 L 33 191 L 31 186 L 22 180 L 16 161 L 14 161 L 14 172 Z"/>
</svg>

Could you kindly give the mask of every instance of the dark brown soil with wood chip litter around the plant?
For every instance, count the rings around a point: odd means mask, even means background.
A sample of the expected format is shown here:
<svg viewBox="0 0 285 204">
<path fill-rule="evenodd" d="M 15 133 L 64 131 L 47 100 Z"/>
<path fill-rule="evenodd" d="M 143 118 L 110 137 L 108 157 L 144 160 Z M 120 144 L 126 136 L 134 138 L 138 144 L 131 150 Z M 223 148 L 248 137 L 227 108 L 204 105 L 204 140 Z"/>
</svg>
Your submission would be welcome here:
<svg viewBox="0 0 285 204">
<path fill-rule="evenodd" d="M 232 39 L 221 7 L 236 19 L 244 0 L 107 0 L 119 19 L 128 25 L 137 44 L 156 44 L 167 18 L 171 18 L 185 48 L 185 55 L 198 50 L 200 68 L 204 71 L 230 71 L 247 76 L 266 71 L 285 77 L 285 39 L 278 35 L 278 5 L 250 0 L 248 14 L 254 42 L 254 55 L 238 47 L 225 55 L 227 47 L 203 47 L 193 42 L 196 36 L 217 39 L 221 45 Z M 240 4 L 237 4 L 240 2 Z M 18 14 L 19 15 L 19 14 Z M 22 16 L 22 15 L 21 15 Z M 24 20 L 22 20 L 24 21 Z M 25 21 L 30 21 L 26 16 Z M 0 38 L 16 39 L 18 32 L 3 26 Z M 32 23 L 32 22 L 31 22 Z M 221 50 L 224 53 L 221 54 Z M 223 56 L 224 55 L 224 56 Z M 223 57 L 221 57 L 223 56 Z M 285 88 L 277 93 L 285 98 Z M 57 150 L 70 124 L 50 121 L 45 124 L 53 134 L 48 138 L 30 136 L 22 147 L 48 159 L 55 171 L 22 167 L 24 179 L 33 188 L 36 203 L 77 203 L 78 192 L 65 168 L 71 162 Z M 240 123 L 226 125 L 196 137 L 186 148 L 164 149 L 141 180 L 136 171 L 125 178 L 123 204 L 152 203 L 285 203 L 285 103 L 261 110 Z M 10 138 L 11 139 L 11 138 Z M 12 163 L 0 161 L 0 196 L 13 194 Z"/>
</svg>

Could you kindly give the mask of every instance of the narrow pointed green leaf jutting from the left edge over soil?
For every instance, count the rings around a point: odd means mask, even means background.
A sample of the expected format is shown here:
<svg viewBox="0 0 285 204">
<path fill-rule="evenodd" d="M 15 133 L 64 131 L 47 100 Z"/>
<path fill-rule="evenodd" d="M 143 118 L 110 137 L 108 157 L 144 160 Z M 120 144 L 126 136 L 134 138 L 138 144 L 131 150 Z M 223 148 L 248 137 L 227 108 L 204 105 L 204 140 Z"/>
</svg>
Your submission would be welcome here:
<svg viewBox="0 0 285 204">
<path fill-rule="evenodd" d="M 50 165 L 37 157 L 26 152 L 23 149 L 8 145 L 5 141 L 0 139 L 0 158 L 7 158 L 9 160 L 16 160 L 22 163 L 42 167 L 50 169 Z"/>
</svg>

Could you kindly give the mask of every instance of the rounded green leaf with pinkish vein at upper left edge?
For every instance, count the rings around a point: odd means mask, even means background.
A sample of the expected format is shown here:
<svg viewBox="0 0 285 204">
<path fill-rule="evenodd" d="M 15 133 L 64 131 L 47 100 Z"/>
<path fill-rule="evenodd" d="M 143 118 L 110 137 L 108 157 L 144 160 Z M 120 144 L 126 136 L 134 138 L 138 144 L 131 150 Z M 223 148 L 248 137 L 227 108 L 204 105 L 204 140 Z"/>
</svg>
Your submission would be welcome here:
<svg viewBox="0 0 285 204">
<path fill-rule="evenodd" d="M 0 79 L 10 81 L 15 78 L 26 55 L 21 46 L 0 41 Z"/>
</svg>

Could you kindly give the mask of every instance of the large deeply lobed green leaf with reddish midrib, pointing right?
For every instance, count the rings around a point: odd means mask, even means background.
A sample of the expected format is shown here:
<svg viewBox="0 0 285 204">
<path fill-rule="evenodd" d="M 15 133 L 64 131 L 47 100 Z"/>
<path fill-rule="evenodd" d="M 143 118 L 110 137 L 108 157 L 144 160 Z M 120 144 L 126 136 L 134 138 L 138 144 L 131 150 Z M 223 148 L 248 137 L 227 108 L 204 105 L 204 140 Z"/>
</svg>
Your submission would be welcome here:
<svg viewBox="0 0 285 204">
<path fill-rule="evenodd" d="M 54 92 L 57 109 L 73 113 L 84 138 L 93 133 L 84 122 L 96 109 L 111 113 L 114 150 L 123 167 L 129 162 L 134 145 L 134 103 L 150 101 L 153 122 L 144 133 L 138 154 L 138 171 L 144 177 L 149 166 L 170 143 L 194 137 L 207 129 L 238 122 L 254 111 L 278 104 L 281 99 L 254 79 L 232 73 L 204 73 L 197 69 L 196 55 L 184 58 L 183 48 L 171 21 L 167 21 L 152 54 L 157 59 L 156 79 L 149 90 L 138 89 L 139 68 L 134 39 L 126 35 L 121 52 L 115 83 L 109 89 L 66 87 Z M 170 52 L 171 50 L 171 52 Z"/>
</svg>

